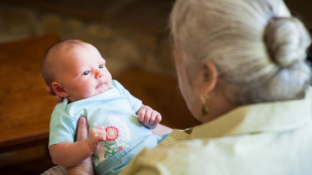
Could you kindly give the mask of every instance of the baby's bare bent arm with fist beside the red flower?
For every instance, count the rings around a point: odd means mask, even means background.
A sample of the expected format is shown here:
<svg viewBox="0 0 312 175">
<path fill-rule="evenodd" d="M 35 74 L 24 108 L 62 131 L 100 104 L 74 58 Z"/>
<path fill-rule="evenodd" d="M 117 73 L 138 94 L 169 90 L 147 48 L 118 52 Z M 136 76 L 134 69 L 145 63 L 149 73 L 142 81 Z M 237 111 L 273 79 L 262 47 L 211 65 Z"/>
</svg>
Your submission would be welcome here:
<svg viewBox="0 0 312 175">
<path fill-rule="evenodd" d="M 106 140 L 103 126 L 97 126 L 89 131 L 85 140 L 77 142 L 61 142 L 50 147 L 52 162 L 64 167 L 78 165 L 99 149 L 100 142 Z"/>
</svg>

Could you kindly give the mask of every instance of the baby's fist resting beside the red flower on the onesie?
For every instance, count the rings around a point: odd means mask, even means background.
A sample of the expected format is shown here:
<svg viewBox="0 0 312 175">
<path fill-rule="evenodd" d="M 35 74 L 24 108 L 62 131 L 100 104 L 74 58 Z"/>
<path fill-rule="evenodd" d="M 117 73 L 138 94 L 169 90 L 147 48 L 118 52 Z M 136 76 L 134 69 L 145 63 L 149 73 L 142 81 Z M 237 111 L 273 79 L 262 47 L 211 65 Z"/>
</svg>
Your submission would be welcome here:
<svg viewBox="0 0 312 175">
<path fill-rule="evenodd" d="M 87 142 L 91 152 L 99 149 L 100 142 L 106 140 L 106 131 L 103 126 L 96 126 L 89 131 Z"/>
</svg>

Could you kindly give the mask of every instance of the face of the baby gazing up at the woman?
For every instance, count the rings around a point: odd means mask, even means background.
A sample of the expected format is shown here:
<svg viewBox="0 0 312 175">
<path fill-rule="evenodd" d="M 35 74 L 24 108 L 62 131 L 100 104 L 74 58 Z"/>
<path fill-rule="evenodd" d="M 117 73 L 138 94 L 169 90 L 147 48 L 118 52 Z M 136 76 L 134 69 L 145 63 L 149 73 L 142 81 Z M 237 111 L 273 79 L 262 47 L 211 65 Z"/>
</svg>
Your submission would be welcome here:
<svg viewBox="0 0 312 175">
<path fill-rule="evenodd" d="M 105 60 L 91 44 L 81 44 L 62 53 L 61 83 L 70 102 L 88 98 L 109 89 L 111 74 Z"/>
</svg>

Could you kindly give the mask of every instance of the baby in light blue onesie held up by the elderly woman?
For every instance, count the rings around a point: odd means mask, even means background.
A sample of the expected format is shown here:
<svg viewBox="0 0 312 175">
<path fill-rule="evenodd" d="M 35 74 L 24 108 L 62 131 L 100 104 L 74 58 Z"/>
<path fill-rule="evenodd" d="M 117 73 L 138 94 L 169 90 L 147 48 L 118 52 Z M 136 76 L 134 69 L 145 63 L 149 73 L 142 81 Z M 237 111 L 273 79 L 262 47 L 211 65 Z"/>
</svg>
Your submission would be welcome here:
<svg viewBox="0 0 312 175">
<path fill-rule="evenodd" d="M 96 174 L 117 174 L 143 148 L 157 145 L 159 137 L 150 129 L 156 128 L 161 115 L 112 80 L 93 45 L 79 40 L 53 44 L 44 55 L 41 73 L 64 98 L 50 121 L 54 164 L 72 167 L 93 155 Z M 74 142 L 81 116 L 88 120 L 89 135 Z"/>
</svg>

